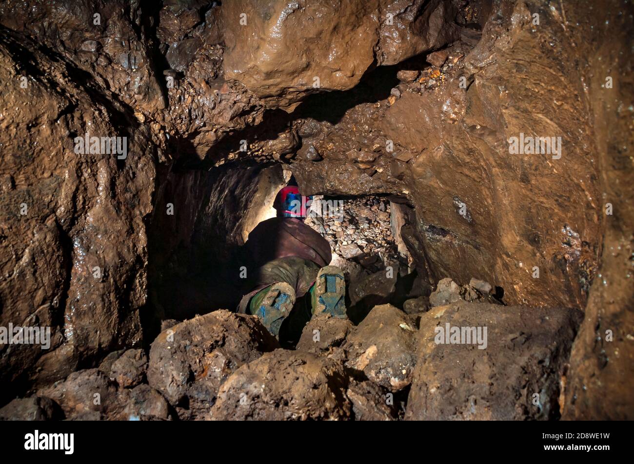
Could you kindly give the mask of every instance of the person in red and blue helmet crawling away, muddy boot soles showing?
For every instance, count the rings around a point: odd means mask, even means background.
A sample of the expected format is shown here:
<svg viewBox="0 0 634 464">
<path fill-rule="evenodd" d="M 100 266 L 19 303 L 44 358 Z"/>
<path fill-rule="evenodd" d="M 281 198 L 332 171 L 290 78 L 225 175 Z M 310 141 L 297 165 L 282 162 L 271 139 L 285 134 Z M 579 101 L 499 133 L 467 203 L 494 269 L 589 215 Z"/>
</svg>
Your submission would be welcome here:
<svg viewBox="0 0 634 464">
<path fill-rule="evenodd" d="M 303 222 L 309 203 L 297 185 L 284 187 L 274 203 L 278 217 L 259 223 L 245 244 L 255 272 L 238 310 L 257 315 L 276 337 L 299 299 L 302 307 L 294 312 L 307 318 L 320 312 L 346 318 L 344 274 L 328 266 L 330 244 Z M 307 319 L 295 320 L 303 325 Z"/>
</svg>

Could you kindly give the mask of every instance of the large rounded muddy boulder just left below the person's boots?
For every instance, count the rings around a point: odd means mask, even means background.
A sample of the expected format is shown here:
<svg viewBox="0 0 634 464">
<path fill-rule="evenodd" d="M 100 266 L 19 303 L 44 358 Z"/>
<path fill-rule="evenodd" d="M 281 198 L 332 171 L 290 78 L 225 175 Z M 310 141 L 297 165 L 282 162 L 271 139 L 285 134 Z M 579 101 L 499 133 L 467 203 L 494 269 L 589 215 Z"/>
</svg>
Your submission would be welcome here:
<svg viewBox="0 0 634 464">
<path fill-rule="evenodd" d="M 181 322 L 152 343 L 148 382 L 181 415 L 196 418 L 231 373 L 278 346 L 256 317 L 214 311 Z"/>
</svg>

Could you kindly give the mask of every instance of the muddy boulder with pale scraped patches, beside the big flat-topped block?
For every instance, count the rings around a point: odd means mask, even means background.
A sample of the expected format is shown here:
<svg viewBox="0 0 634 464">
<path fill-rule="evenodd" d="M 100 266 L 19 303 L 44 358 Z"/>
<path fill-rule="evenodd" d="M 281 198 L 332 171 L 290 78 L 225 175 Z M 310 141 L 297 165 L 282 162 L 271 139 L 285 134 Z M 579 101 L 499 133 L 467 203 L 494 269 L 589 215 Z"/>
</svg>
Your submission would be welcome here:
<svg viewBox="0 0 634 464">
<path fill-rule="evenodd" d="M 416 327 L 391 304 L 375 306 L 342 347 L 346 366 L 395 392 L 411 383 L 416 365 Z"/>
</svg>

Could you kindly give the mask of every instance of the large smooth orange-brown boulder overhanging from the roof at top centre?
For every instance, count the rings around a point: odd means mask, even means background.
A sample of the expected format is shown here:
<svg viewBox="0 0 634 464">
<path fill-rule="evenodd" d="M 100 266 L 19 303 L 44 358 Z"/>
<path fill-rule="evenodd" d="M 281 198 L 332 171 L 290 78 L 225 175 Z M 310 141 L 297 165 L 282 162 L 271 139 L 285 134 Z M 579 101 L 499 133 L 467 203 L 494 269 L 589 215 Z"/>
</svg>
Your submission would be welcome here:
<svg viewBox="0 0 634 464">
<path fill-rule="evenodd" d="M 224 73 L 286 108 L 313 89 L 350 89 L 374 60 L 376 9 L 377 0 L 223 4 Z"/>
</svg>

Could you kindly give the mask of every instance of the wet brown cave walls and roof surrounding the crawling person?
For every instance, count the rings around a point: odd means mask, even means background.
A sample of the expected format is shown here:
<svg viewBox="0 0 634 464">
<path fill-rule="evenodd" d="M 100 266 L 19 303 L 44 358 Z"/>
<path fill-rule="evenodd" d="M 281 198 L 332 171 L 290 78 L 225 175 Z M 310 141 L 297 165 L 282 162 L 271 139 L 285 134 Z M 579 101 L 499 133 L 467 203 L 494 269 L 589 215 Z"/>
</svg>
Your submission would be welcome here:
<svg viewBox="0 0 634 464">
<path fill-rule="evenodd" d="M 276 162 L 306 194 L 406 204 L 401 235 L 425 289 L 477 277 L 507 304 L 584 310 L 563 417 L 631 418 L 628 11 L 577 0 L 0 4 L 0 325 L 52 328 L 48 350 L 0 347 L 11 382 L 0 402 L 147 345 L 162 318 L 233 306 L 236 270 L 223 263 L 240 265 L 247 223 L 281 180 L 262 184 L 262 163 Z M 87 133 L 126 137 L 126 156 L 77 149 Z M 559 148 L 512 153 L 524 136 Z"/>
</svg>

